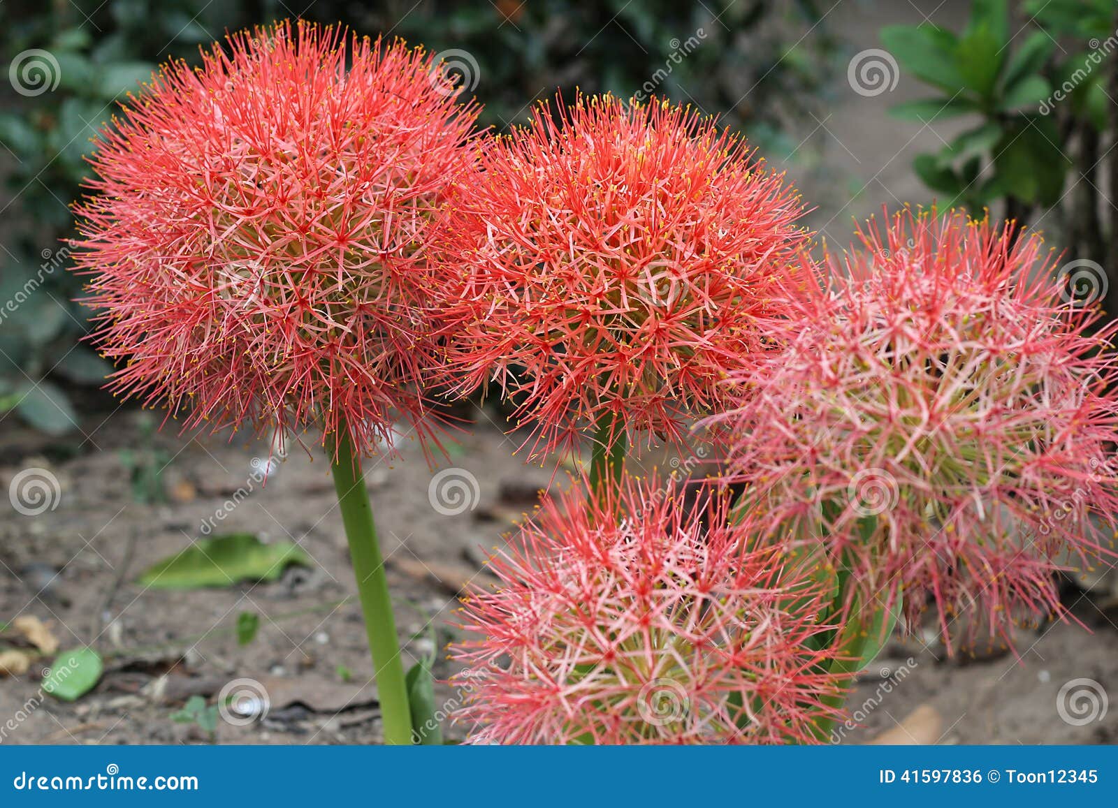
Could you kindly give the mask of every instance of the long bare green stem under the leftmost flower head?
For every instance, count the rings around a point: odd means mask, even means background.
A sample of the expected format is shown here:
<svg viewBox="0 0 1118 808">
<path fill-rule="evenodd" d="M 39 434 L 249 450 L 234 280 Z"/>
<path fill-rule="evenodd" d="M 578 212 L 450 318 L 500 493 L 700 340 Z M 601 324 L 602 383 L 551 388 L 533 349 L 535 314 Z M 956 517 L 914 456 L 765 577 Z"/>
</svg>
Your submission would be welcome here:
<svg viewBox="0 0 1118 808">
<path fill-rule="evenodd" d="M 377 694 L 385 724 L 385 743 L 411 743 L 411 711 L 408 690 L 400 660 L 400 645 L 392 619 L 392 600 L 385 577 L 385 560 L 377 542 L 377 527 L 372 521 L 372 506 L 364 486 L 361 458 L 353 450 L 349 426 L 338 425 L 333 437 L 331 472 L 338 504 L 341 506 L 350 558 L 357 574 L 357 588 L 364 615 L 364 628 L 372 652 L 372 669 L 377 679 Z"/>
</svg>

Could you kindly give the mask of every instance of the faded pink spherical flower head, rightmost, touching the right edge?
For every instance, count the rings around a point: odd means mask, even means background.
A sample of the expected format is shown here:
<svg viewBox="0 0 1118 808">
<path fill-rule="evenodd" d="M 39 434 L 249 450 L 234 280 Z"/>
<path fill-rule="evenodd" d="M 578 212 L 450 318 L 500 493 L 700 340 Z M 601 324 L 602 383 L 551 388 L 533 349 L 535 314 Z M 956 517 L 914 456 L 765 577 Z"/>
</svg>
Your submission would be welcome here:
<svg viewBox="0 0 1118 808">
<path fill-rule="evenodd" d="M 1008 639 L 1060 612 L 1061 560 L 1107 552 L 1114 326 L 1011 227 L 902 212 L 860 235 L 721 419 L 730 477 L 773 536 L 851 574 L 855 608 L 902 598 L 915 629 L 931 601 L 945 638 L 975 608 L 970 627 Z"/>
</svg>

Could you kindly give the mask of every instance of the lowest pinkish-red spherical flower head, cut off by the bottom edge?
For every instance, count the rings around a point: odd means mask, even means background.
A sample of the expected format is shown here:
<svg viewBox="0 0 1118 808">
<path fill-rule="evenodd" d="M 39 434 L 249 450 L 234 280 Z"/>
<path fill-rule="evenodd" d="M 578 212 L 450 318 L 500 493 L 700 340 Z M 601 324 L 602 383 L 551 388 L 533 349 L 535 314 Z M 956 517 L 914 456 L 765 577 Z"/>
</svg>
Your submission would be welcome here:
<svg viewBox="0 0 1118 808">
<path fill-rule="evenodd" d="M 743 552 L 727 503 L 626 482 L 547 501 L 471 595 L 452 648 L 474 742 L 812 742 L 840 694 L 804 565 Z"/>
</svg>

